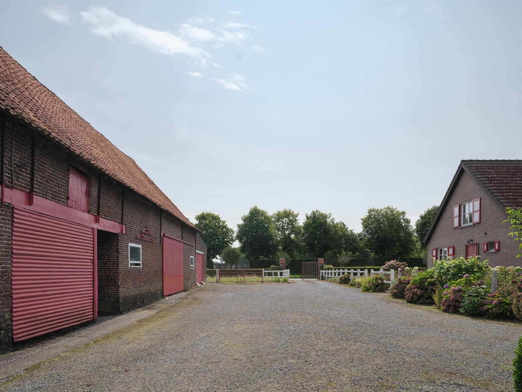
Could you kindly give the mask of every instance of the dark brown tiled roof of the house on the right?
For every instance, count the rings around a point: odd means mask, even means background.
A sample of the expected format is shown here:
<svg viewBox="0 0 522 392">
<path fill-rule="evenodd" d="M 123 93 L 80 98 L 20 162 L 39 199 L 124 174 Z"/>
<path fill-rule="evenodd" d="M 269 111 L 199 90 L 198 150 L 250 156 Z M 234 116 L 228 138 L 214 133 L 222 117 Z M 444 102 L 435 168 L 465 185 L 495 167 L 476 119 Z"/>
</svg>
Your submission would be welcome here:
<svg viewBox="0 0 522 392">
<path fill-rule="evenodd" d="M 506 207 L 522 207 L 522 159 L 462 160 Z"/>
</svg>

